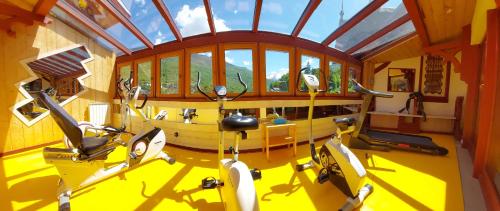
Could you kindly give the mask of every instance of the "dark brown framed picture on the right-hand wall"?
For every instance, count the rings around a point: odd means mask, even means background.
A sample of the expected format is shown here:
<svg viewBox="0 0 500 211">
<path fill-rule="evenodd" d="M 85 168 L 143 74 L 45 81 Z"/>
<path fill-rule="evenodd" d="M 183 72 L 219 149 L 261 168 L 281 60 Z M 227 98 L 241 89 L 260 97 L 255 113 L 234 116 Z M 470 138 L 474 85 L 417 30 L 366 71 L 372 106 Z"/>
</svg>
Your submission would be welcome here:
<svg viewBox="0 0 500 211">
<path fill-rule="evenodd" d="M 420 58 L 420 92 L 425 102 L 448 102 L 450 62 L 443 57 L 426 55 Z"/>
</svg>

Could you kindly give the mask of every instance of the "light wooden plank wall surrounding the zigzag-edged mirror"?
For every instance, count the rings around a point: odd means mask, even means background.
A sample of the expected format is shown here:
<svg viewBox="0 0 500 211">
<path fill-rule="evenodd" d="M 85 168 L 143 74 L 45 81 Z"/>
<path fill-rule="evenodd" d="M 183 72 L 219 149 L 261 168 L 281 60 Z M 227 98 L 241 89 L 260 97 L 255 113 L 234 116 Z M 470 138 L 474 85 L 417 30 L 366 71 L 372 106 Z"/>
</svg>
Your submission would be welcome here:
<svg viewBox="0 0 500 211">
<path fill-rule="evenodd" d="M 84 80 L 89 91 L 64 108 L 77 120 L 87 119 L 89 103 L 110 103 L 110 83 L 113 81 L 115 55 L 94 40 L 80 34 L 61 21 L 46 26 L 15 24 L 15 38 L 0 32 L 0 154 L 60 140 L 63 133 L 52 119 L 46 117 L 31 127 L 17 119 L 10 108 L 24 97 L 15 83 L 28 76 L 20 60 L 35 57 L 74 44 L 87 46 L 94 60 L 86 63 L 91 76 Z"/>
</svg>

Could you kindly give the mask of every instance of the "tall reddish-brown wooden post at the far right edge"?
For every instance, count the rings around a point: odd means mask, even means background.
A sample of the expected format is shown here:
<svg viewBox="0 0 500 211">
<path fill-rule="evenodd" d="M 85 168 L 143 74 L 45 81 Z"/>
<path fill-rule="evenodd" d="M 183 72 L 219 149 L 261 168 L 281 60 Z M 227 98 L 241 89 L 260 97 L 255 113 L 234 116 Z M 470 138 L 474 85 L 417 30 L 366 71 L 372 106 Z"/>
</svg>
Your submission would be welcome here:
<svg viewBox="0 0 500 211">
<path fill-rule="evenodd" d="M 500 210 L 493 178 L 486 172 L 489 146 L 492 142 L 499 141 L 494 140 L 492 133 L 498 130 L 498 125 L 493 125 L 495 112 L 500 112 L 500 103 L 496 104 L 496 92 L 500 91 L 500 83 L 497 82 L 500 76 L 500 9 L 488 11 L 485 44 L 485 68 L 480 85 L 478 136 L 473 175 L 479 179 L 488 209 Z"/>
</svg>

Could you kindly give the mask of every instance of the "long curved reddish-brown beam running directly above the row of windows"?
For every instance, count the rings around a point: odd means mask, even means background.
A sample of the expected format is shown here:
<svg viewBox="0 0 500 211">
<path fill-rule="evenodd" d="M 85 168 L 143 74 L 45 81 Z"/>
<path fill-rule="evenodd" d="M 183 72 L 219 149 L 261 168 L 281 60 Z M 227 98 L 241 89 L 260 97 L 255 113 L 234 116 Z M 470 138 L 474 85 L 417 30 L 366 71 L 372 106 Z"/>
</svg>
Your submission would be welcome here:
<svg viewBox="0 0 500 211">
<path fill-rule="evenodd" d="M 284 46 L 294 46 L 306 50 L 327 54 L 337 59 L 349 62 L 355 65 L 363 65 L 360 60 L 348 55 L 337 49 L 323 46 L 320 43 L 313 42 L 306 39 L 293 38 L 289 35 L 275 33 L 275 32 L 252 32 L 252 31 L 227 31 L 219 32 L 215 36 L 201 34 L 185 38 L 182 42 L 172 41 L 156 45 L 154 49 L 144 49 L 135 51 L 132 55 L 124 55 L 116 58 L 117 63 L 132 61 L 139 58 L 154 56 L 156 54 L 170 52 L 185 48 L 195 48 L 206 45 L 217 45 L 221 43 L 238 43 L 238 42 L 252 42 L 252 43 L 272 43 Z"/>
</svg>

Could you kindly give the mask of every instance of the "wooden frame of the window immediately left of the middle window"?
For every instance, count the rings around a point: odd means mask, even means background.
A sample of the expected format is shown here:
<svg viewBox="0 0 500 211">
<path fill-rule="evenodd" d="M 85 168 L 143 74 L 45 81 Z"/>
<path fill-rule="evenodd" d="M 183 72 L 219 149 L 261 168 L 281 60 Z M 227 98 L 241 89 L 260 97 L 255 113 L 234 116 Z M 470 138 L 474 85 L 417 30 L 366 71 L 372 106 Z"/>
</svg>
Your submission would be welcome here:
<svg viewBox="0 0 500 211">
<path fill-rule="evenodd" d="M 191 54 L 195 53 L 203 53 L 203 52 L 212 52 L 212 84 L 213 86 L 218 85 L 219 77 L 217 74 L 217 67 L 218 67 L 218 62 L 217 62 L 217 45 L 206 45 L 206 46 L 201 46 L 201 47 L 195 47 L 195 48 L 186 48 L 184 51 L 184 75 L 186 76 L 184 78 L 184 96 L 186 98 L 202 98 L 203 95 L 201 93 L 198 94 L 191 94 L 190 89 L 191 89 Z M 207 93 L 207 94 L 212 94 L 212 93 Z"/>
</svg>

